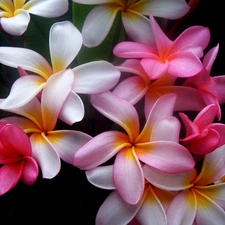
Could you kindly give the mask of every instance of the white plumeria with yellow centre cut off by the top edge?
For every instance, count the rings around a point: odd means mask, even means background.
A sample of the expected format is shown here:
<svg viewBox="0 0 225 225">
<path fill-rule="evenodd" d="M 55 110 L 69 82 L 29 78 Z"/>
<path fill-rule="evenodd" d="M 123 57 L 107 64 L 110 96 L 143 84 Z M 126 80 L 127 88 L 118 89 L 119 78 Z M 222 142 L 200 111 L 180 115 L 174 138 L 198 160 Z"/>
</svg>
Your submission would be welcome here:
<svg viewBox="0 0 225 225">
<path fill-rule="evenodd" d="M 134 41 L 152 42 L 148 15 L 166 19 L 178 19 L 189 11 L 184 0 L 73 0 L 80 4 L 98 4 L 87 15 L 82 34 L 84 45 L 95 47 L 109 33 L 118 12 L 126 34 Z"/>
</svg>

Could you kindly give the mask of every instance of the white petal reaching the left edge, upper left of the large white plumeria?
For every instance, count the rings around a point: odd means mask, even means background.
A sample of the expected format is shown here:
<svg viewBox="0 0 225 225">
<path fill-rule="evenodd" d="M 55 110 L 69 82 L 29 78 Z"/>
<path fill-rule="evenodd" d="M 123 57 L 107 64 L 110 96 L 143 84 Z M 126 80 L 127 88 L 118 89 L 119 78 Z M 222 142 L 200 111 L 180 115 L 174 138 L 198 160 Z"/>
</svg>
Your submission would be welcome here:
<svg viewBox="0 0 225 225">
<path fill-rule="evenodd" d="M 0 47 L 0 62 L 14 68 L 21 67 L 41 75 L 46 80 L 52 74 L 49 63 L 37 52 L 19 47 Z"/>
</svg>

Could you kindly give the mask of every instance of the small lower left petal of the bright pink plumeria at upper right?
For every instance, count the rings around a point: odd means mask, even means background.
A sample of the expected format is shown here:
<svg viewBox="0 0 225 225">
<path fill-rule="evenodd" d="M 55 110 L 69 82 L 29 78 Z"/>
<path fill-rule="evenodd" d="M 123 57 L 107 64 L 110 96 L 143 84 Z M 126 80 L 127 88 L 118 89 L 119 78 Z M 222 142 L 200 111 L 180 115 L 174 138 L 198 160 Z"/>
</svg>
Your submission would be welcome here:
<svg viewBox="0 0 225 225">
<path fill-rule="evenodd" d="M 145 72 L 151 80 L 155 80 L 163 76 L 169 67 L 169 62 L 161 62 L 158 58 L 144 58 L 141 60 Z"/>
</svg>

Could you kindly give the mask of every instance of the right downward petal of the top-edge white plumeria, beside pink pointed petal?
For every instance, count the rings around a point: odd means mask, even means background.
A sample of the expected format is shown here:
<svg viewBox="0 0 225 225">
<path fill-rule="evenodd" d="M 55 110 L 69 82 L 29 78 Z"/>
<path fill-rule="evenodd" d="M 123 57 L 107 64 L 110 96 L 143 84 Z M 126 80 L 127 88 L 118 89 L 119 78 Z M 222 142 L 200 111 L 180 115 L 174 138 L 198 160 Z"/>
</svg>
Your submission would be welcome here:
<svg viewBox="0 0 225 225">
<path fill-rule="evenodd" d="M 122 12 L 122 22 L 126 34 L 135 42 L 155 46 L 155 39 L 150 26 L 150 21 L 136 11 Z"/>
</svg>

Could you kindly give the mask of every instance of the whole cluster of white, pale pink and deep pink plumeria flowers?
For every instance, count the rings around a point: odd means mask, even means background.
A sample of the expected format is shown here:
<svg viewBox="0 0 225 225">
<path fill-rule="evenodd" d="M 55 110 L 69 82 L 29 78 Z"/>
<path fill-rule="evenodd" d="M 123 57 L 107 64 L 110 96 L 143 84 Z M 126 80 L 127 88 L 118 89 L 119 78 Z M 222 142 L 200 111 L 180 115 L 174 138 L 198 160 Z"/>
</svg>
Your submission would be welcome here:
<svg viewBox="0 0 225 225">
<path fill-rule="evenodd" d="M 71 21 L 51 26 L 51 63 L 25 47 L 0 47 L 0 63 L 20 75 L 0 99 L 0 109 L 12 113 L 0 120 L 0 194 L 20 180 L 34 184 L 39 169 L 55 177 L 63 160 L 112 190 L 96 225 L 223 225 L 225 76 L 210 76 L 219 45 L 205 52 L 210 31 L 203 26 L 171 40 L 156 20 L 179 19 L 194 1 L 73 2 L 96 6 L 81 32 Z M 29 13 L 58 17 L 68 7 L 67 0 L 0 0 L 1 26 L 22 35 Z M 126 34 L 113 48 L 118 61 L 71 68 L 82 45 L 106 38 L 118 13 Z M 80 94 L 114 126 L 93 137 L 56 129 L 58 121 L 82 123 Z"/>
</svg>

